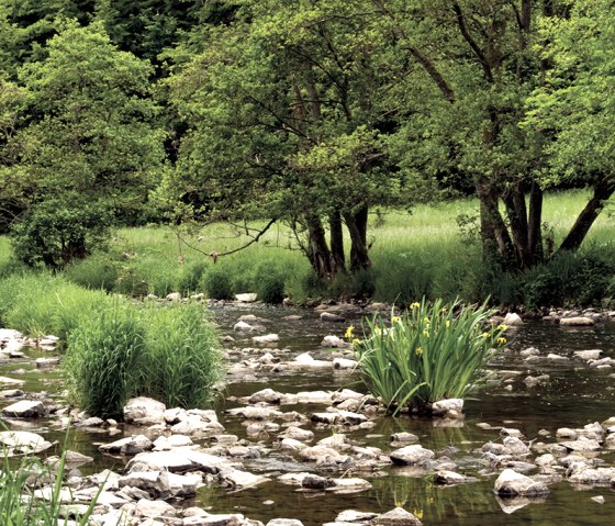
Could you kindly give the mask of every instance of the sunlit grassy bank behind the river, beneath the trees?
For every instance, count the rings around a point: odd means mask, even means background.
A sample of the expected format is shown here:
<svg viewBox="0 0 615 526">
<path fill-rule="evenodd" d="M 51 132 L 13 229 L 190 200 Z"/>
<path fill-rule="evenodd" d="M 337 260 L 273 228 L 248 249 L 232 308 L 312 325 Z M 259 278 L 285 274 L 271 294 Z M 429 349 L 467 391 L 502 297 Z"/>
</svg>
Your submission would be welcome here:
<svg viewBox="0 0 615 526">
<path fill-rule="evenodd" d="M 588 192 L 546 195 L 544 222 L 557 244 L 584 205 Z M 465 217 L 460 228 L 458 217 Z M 217 262 L 210 253 L 238 248 L 250 238 L 241 230 L 214 225 L 197 233 L 171 227 L 128 228 L 116 233 L 112 247 L 67 269 L 74 282 L 131 295 L 203 292 L 217 299 L 257 292 L 279 302 L 289 295 L 308 299 L 369 296 L 410 303 L 423 295 L 451 301 L 537 305 L 596 304 L 615 292 L 615 219 L 603 213 L 578 254 L 556 258 L 522 276 L 502 273 L 482 261 L 478 243 L 478 202 L 458 200 L 417 205 L 411 213 L 388 211 L 370 216 L 372 268 L 356 276 L 320 282 L 283 225 L 259 243 Z M 183 243 L 183 240 L 188 244 Z M 10 267 L 7 244 L 0 244 L 1 266 Z M 4 261 L 4 264 L 2 262 Z"/>
</svg>

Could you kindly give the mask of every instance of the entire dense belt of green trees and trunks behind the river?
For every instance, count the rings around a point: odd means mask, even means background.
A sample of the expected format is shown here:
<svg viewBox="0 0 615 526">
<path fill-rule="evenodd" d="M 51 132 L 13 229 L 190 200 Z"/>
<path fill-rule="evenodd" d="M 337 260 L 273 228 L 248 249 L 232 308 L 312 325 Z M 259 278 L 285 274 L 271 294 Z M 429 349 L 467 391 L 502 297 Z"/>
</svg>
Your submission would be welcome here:
<svg viewBox="0 0 615 526">
<path fill-rule="evenodd" d="M 114 225 L 283 222 L 331 278 L 374 208 L 472 194 L 528 269 L 615 190 L 613 42 L 611 0 L 0 0 L 0 228 L 57 269 Z"/>
</svg>

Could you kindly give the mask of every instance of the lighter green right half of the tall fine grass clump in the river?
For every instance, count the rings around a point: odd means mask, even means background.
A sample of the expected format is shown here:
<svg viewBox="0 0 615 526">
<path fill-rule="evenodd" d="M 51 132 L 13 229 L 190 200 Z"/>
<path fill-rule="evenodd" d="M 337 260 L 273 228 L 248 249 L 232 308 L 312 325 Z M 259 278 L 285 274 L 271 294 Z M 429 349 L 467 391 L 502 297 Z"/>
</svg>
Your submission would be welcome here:
<svg viewBox="0 0 615 526">
<path fill-rule="evenodd" d="M 203 306 L 150 305 L 142 314 L 146 336 L 137 367 L 139 393 L 167 407 L 206 406 L 222 369 L 217 335 Z"/>
</svg>

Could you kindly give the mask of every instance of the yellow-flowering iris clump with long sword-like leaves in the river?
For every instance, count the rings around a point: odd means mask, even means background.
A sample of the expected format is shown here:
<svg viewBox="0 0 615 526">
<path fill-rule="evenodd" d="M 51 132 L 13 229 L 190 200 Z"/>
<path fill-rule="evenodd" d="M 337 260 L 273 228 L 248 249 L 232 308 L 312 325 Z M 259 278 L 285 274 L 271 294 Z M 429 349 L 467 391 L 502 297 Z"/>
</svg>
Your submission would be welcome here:
<svg viewBox="0 0 615 526">
<path fill-rule="evenodd" d="M 365 383 L 394 415 L 489 385 L 493 378 L 484 367 L 506 345 L 506 327 L 491 326 L 492 314 L 485 305 L 423 300 L 390 325 L 374 317 L 369 335 L 354 342 Z"/>
</svg>

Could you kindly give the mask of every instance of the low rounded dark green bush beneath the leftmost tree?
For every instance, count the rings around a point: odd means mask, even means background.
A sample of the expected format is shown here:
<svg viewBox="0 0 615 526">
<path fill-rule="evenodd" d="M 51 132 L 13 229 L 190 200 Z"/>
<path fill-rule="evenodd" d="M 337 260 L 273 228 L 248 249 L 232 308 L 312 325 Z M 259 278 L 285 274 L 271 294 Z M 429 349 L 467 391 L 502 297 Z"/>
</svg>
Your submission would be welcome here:
<svg viewBox="0 0 615 526">
<path fill-rule="evenodd" d="M 98 203 L 82 203 L 76 193 L 51 198 L 31 208 L 11 228 L 13 250 L 26 265 L 64 268 L 103 246 L 111 217 Z"/>
</svg>

